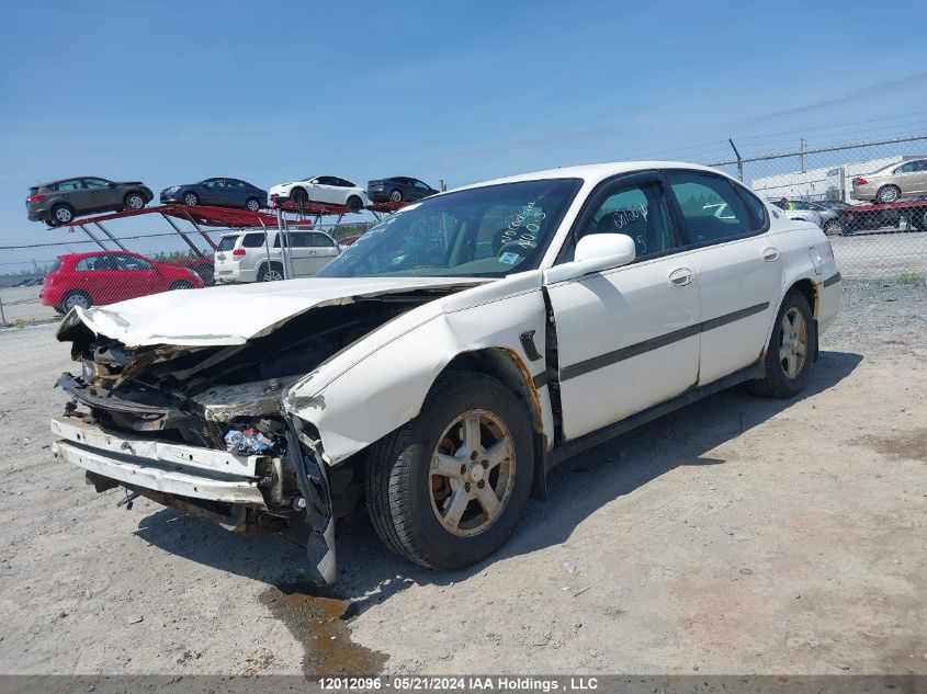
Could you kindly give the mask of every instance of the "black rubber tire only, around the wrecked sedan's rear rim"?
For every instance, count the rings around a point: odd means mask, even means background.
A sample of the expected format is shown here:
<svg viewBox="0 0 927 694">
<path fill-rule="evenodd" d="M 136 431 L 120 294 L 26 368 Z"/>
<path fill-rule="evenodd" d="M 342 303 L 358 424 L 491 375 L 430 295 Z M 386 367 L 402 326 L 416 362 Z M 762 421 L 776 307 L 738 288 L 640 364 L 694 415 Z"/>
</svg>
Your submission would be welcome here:
<svg viewBox="0 0 927 694">
<path fill-rule="evenodd" d="M 785 360 L 780 356 L 780 350 L 784 346 L 783 343 L 785 341 L 782 321 L 787 314 L 793 310 L 800 314 L 804 320 L 806 339 L 804 343 L 804 360 L 794 376 L 790 376 L 783 366 Z M 792 289 L 785 295 L 782 306 L 779 307 L 779 312 L 776 315 L 776 323 L 773 325 L 772 334 L 766 348 L 766 359 L 764 360 L 766 377 L 749 380 L 747 382 L 747 386 L 755 394 L 768 398 L 791 398 L 805 387 L 814 367 L 814 356 L 816 353 L 817 331 L 814 318 L 812 317 L 811 306 L 809 306 L 804 294 L 798 289 Z"/>
</svg>

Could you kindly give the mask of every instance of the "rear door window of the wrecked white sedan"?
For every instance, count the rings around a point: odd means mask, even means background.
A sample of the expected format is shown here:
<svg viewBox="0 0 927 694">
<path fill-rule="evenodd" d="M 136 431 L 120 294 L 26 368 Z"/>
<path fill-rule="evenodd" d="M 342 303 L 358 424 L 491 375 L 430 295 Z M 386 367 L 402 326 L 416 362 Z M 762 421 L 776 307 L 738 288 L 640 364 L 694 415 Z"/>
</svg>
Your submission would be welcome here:
<svg viewBox="0 0 927 694">
<path fill-rule="evenodd" d="M 669 171 L 692 244 L 724 241 L 758 231 L 755 215 L 734 186 L 721 177 L 692 171 Z"/>
</svg>

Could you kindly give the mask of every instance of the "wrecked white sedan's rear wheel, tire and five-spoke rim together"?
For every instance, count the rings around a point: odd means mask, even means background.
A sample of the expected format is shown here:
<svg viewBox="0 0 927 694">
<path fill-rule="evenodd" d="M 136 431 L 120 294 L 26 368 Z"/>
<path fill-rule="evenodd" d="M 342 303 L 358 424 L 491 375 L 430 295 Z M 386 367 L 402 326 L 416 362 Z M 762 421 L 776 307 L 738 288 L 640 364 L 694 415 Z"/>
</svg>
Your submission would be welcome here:
<svg viewBox="0 0 927 694">
<path fill-rule="evenodd" d="M 817 332 L 811 306 L 801 292 L 785 295 L 769 345 L 766 349 L 766 376 L 747 382 L 750 390 L 771 398 L 791 398 L 805 387 L 817 351 Z"/>
</svg>

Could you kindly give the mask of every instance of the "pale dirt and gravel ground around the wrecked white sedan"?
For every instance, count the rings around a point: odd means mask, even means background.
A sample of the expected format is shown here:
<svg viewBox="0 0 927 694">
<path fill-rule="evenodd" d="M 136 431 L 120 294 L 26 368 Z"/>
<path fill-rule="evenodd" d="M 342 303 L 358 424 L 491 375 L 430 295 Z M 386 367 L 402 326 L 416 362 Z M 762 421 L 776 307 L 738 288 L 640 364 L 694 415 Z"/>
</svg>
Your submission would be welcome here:
<svg viewBox="0 0 927 694">
<path fill-rule="evenodd" d="M 86 487 L 48 450 L 65 346 L 2 330 L 0 672 L 927 673 L 925 294 L 851 282 L 801 399 L 735 389 L 557 468 L 472 570 L 359 514 L 328 598 L 276 537 Z"/>
</svg>

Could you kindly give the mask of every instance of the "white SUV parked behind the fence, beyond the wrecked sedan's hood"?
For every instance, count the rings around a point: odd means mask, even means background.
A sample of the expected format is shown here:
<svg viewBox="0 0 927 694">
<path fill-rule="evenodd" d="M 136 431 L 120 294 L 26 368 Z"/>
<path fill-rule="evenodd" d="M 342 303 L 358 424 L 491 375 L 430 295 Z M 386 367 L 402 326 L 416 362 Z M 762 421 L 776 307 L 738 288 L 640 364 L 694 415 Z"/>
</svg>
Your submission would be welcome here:
<svg viewBox="0 0 927 694">
<path fill-rule="evenodd" d="M 341 247 L 324 231 L 290 230 L 293 277 L 310 277 L 341 253 Z M 236 231 L 219 240 L 215 252 L 216 284 L 283 280 L 281 234 Z"/>
</svg>

